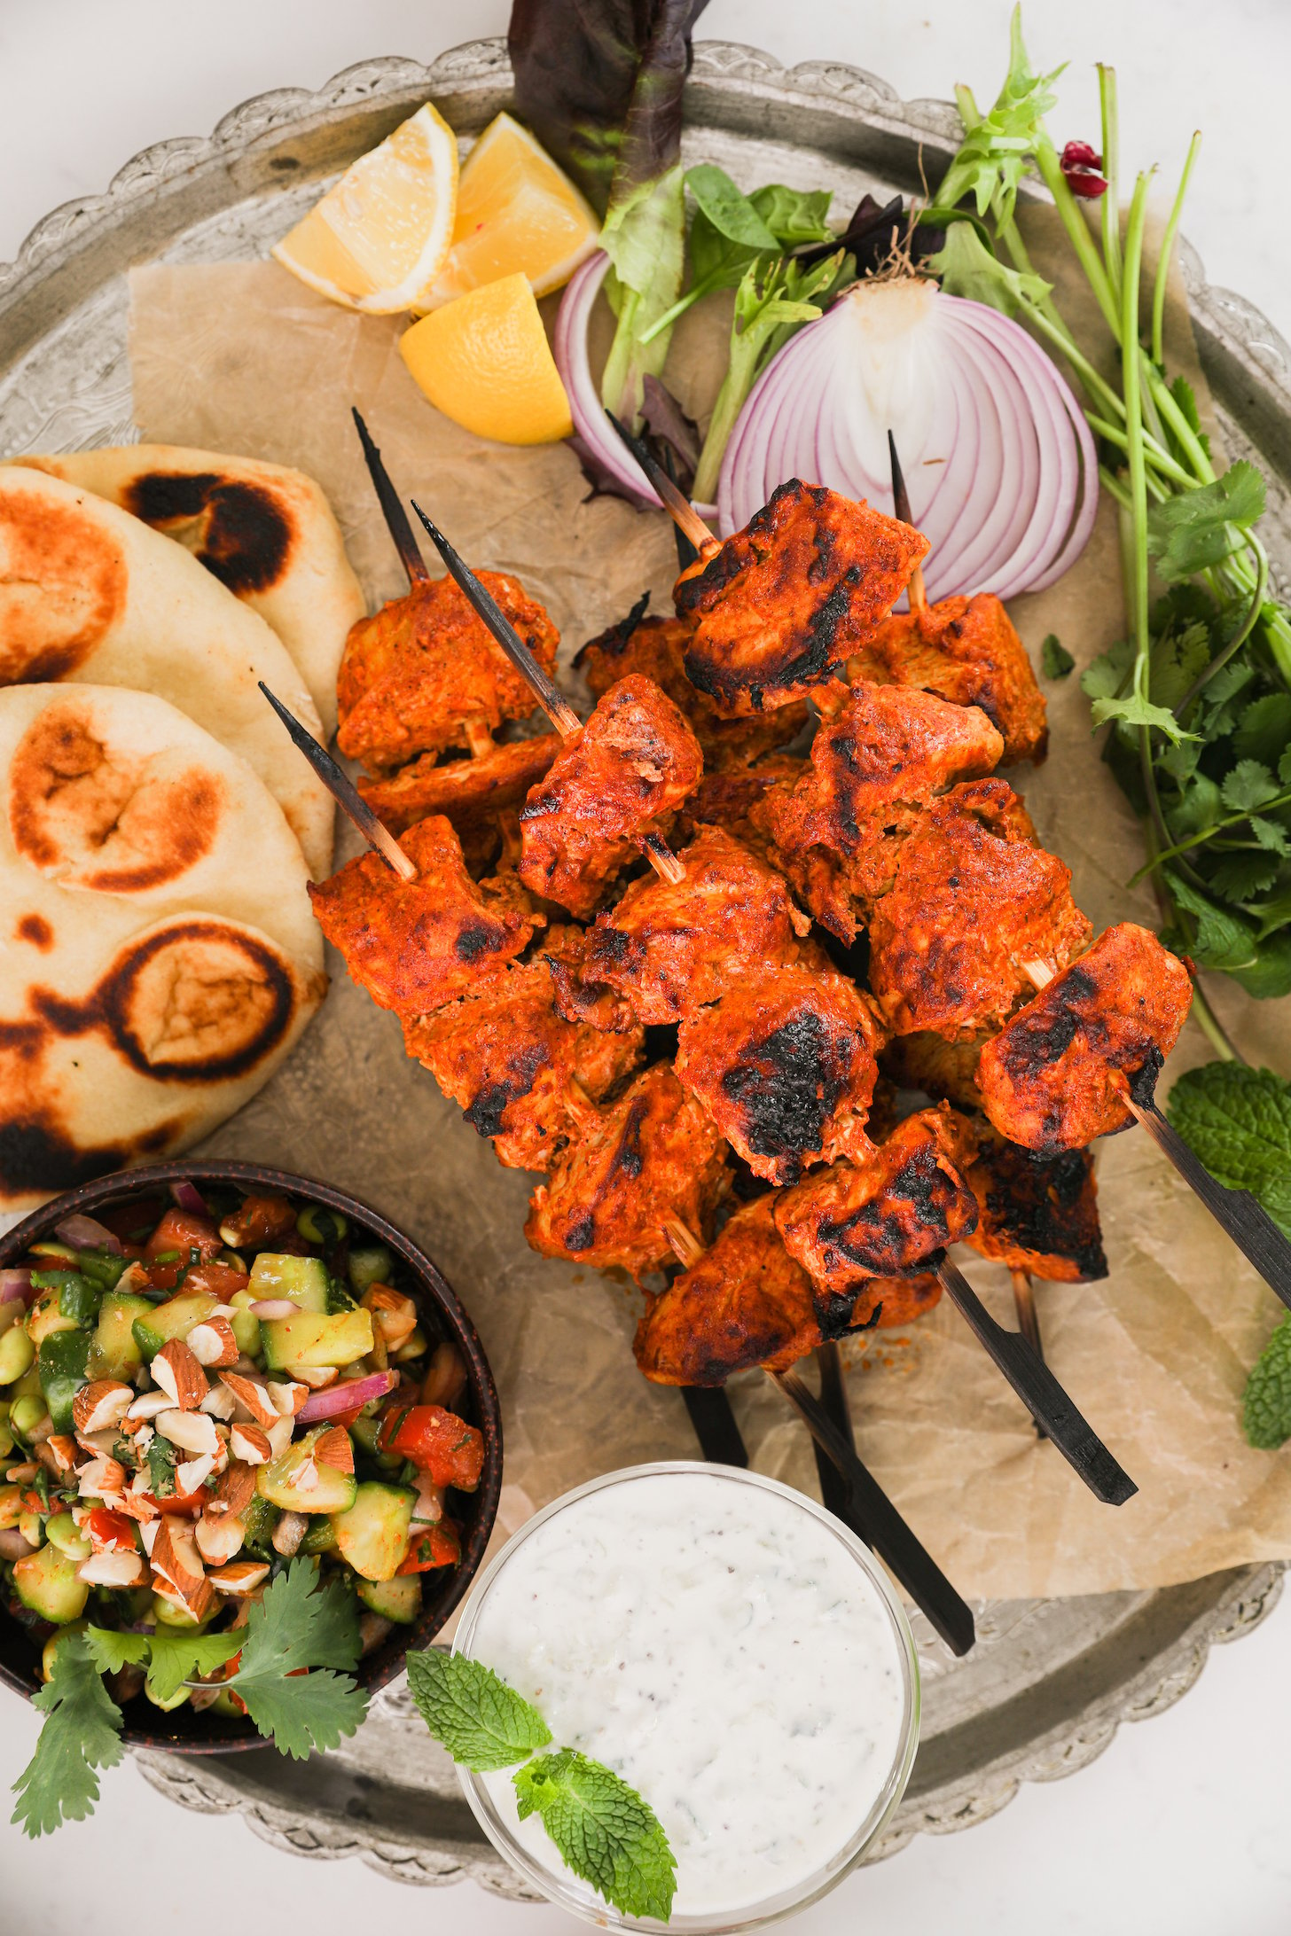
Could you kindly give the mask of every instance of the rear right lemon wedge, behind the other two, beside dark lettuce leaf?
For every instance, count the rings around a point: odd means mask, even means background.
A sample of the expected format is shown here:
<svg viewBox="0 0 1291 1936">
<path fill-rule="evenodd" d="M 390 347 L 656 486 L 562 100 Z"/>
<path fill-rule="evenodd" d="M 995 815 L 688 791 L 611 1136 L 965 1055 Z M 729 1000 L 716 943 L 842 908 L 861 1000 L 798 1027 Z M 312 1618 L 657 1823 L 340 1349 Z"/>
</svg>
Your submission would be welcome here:
<svg viewBox="0 0 1291 1936">
<path fill-rule="evenodd" d="M 528 128 L 509 114 L 488 124 L 457 184 L 453 246 L 422 310 L 505 275 L 536 296 L 561 288 L 596 248 L 600 223 Z"/>
</svg>

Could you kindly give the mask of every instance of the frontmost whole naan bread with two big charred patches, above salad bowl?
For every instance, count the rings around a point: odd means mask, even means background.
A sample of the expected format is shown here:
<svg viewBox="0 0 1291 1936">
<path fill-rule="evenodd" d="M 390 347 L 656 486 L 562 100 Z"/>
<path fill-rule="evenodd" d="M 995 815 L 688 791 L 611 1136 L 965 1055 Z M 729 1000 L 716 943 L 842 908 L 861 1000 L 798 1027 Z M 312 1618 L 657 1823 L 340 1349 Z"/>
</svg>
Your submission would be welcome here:
<svg viewBox="0 0 1291 1936">
<path fill-rule="evenodd" d="M 163 699 L 10 685 L 0 776 L 0 1210 L 29 1210 L 232 1115 L 327 980 L 283 811 Z"/>
</svg>

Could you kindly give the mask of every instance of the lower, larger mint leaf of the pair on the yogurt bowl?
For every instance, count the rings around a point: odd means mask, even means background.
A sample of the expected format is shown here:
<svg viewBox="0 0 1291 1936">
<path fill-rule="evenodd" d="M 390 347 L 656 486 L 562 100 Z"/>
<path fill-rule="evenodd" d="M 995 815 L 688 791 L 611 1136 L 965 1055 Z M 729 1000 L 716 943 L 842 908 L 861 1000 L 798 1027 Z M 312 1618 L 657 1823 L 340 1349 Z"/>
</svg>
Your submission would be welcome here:
<svg viewBox="0 0 1291 1936">
<path fill-rule="evenodd" d="M 575 1876 L 623 1915 L 668 1921 L 676 1857 L 654 1810 L 612 1768 L 561 1748 L 517 1768 L 511 1781 L 521 1822 L 540 1814 Z"/>
</svg>

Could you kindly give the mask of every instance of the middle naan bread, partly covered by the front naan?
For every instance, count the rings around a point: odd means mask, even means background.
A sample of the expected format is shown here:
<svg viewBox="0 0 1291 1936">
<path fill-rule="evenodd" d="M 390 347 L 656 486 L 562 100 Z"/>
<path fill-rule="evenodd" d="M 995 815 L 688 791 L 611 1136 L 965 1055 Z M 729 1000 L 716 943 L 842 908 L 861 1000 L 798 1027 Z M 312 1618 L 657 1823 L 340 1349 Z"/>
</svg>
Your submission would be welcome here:
<svg viewBox="0 0 1291 1936">
<path fill-rule="evenodd" d="M 0 687 L 45 680 L 168 699 L 240 753 L 283 807 L 315 879 L 333 805 L 255 681 L 314 734 L 286 647 L 182 546 L 60 478 L 0 467 Z M 2 771 L 2 769 L 0 769 Z"/>
</svg>

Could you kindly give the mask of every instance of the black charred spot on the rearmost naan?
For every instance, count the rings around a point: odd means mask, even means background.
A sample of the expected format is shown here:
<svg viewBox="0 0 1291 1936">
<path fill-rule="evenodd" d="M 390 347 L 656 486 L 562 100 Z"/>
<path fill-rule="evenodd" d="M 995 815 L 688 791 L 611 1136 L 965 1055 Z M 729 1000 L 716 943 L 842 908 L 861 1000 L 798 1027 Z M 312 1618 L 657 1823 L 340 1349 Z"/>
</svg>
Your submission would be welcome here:
<svg viewBox="0 0 1291 1936">
<path fill-rule="evenodd" d="M 286 575 L 296 523 L 283 496 L 265 484 L 215 470 L 143 470 L 126 486 L 122 503 L 178 538 L 240 598 L 267 592 Z"/>
</svg>

